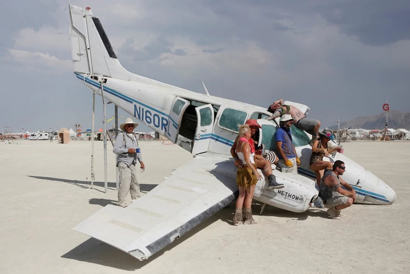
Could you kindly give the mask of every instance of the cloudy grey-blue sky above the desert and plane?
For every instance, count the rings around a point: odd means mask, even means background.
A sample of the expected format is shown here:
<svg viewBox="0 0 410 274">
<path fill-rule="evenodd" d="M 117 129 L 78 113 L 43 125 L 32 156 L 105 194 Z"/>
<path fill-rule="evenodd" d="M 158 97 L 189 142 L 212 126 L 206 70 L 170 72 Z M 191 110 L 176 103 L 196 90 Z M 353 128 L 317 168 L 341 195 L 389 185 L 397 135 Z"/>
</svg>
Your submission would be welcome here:
<svg viewBox="0 0 410 274">
<path fill-rule="evenodd" d="M 17 2 L 0 1 L 0 132 L 91 128 L 92 94 L 72 68 L 68 1 Z M 407 0 L 70 2 L 91 7 L 126 69 L 161 82 L 203 93 L 204 81 L 212 95 L 263 107 L 303 103 L 322 128 L 379 114 L 386 99 L 410 111 Z M 99 96 L 96 105 L 98 129 Z"/>
</svg>

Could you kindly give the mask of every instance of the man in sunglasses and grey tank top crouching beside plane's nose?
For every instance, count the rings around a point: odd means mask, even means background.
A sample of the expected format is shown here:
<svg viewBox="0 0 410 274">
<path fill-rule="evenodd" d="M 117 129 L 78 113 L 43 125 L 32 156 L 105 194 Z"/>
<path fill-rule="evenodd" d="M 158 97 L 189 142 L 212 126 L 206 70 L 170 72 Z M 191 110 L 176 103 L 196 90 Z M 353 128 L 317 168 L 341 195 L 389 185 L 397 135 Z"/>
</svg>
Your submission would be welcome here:
<svg viewBox="0 0 410 274">
<path fill-rule="evenodd" d="M 329 208 L 327 213 L 335 220 L 346 217 L 341 210 L 356 202 L 356 191 L 340 178 L 345 171 L 344 163 L 337 160 L 333 164 L 332 170 L 326 169 L 324 171 L 319 185 L 320 197 L 324 206 Z"/>
</svg>

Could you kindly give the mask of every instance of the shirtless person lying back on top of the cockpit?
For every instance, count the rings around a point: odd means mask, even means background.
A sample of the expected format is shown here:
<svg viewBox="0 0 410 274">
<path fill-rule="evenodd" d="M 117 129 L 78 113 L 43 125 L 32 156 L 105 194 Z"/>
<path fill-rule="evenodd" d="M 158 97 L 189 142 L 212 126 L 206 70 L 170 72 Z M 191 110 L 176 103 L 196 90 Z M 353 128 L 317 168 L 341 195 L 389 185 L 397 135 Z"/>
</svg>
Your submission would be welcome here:
<svg viewBox="0 0 410 274">
<path fill-rule="evenodd" d="M 320 121 L 306 118 L 304 113 L 294 106 L 284 105 L 283 99 L 279 99 L 273 102 L 273 104 L 269 106 L 268 111 L 272 112 L 273 114 L 267 120 L 273 120 L 277 117 L 281 117 L 284 114 L 290 114 L 293 118 L 293 124 L 296 127 L 312 135 L 312 140 L 309 143 L 311 146 L 313 144 L 313 141 L 317 139 L 320 128 Z"/>
</svg>

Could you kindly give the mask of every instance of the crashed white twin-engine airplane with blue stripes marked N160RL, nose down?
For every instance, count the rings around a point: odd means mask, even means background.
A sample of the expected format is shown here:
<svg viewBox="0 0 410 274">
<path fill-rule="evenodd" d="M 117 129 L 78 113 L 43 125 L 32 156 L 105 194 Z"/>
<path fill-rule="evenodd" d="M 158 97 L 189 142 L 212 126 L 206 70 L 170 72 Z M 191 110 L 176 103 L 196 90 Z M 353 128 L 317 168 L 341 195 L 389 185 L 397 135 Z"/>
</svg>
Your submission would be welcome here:
<svg viewBox="0 0 410 274">
<path fill-rule="evenodd" d="M 87 88 L 124 109 L 194 158 L 127 208 L 107 205 L 74 227 L 139 260 L 172 243 L 190 229 L 235 200 L 236 168 L 230 149 L 238 124 L 257 119 L 262 126 L 259 144 L 275 150 L 278 121 L 264 120 L 265 107 L 200 94 L 133 74 L 121 66 L 99 19 L 90 8 L 70 5 L 71 49 L 74 74 Z M 301 110 L 305 105 L 288 102 Z M 309 169 L 310 136 L 292 127 L 301 160 L 299 174 L 275 171 L 284 188 L 268 189 L 257 183 L 254 199 L 293 212 L 304 212 L 315 201 L 315 173 Z M 370 171 L 336 153 L 329 161 L 342 160 L 343 175 L 358 194 L 357 203 L 392 204 L 396 193 Z"/>
</svg>

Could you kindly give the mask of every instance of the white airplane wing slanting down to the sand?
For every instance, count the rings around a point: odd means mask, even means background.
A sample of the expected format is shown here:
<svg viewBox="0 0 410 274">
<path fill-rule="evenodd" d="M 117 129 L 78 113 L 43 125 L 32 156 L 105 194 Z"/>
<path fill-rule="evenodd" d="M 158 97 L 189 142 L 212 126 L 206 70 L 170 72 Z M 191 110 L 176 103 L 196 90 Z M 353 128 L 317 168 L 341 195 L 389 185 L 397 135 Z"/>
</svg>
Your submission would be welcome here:
<svg viewBox="0 0 410 274">
<path fill-rule="evenodd" d="M 145 260 L 235 199 L 228 155 L 203 153 L 122 208 L 107 205 L 73 229 Z"/>
</svg>

